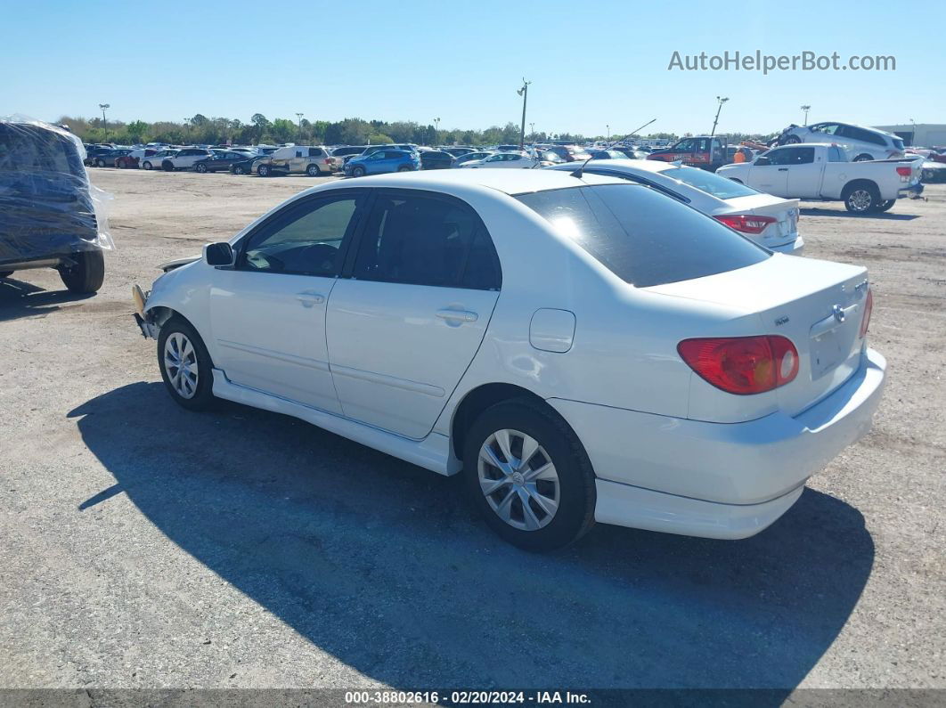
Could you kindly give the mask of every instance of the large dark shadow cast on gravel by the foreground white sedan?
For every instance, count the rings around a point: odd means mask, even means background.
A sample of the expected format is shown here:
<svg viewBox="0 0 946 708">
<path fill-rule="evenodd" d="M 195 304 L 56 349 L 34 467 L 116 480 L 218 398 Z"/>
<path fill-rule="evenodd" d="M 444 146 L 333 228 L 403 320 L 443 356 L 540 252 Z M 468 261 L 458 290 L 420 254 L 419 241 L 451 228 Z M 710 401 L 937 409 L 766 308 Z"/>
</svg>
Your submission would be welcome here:
<svg viewBox="0 0 946 708">
<path fill-rule="evenodd" d="M 190 413 L 150 383 L 69 416 L 115 478 L 76 513 L 128 494 L 308 641 L 394 686 L 766 687 L 777 703 L 873 563 L 861 514 L 812 490 L 741 542 L 598 526 L 540 556 L 473 518 L 456 477 L 288 417 Z"/>
</svg>

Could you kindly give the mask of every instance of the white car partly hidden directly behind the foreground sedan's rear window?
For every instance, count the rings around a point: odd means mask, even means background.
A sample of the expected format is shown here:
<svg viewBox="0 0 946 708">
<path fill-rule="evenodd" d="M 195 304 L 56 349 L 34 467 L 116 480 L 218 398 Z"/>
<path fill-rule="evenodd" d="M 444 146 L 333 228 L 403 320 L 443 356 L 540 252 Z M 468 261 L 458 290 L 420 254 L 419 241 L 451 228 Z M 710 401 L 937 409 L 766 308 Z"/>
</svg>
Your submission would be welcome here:
<svg viewBox="0 0 946 708">
<path fill-rule="evenodd" d="M 577 163 L 546 167 L 565 172 L 577 168 Z M 805 241 L 798 235 L 797 199 L 763 194 L 699 167 L 656 160 L 592 160 L 582 170 L 646 184 L 745 233 L 767 249 L 793 255 L 804 249 Z"/>
</svg>

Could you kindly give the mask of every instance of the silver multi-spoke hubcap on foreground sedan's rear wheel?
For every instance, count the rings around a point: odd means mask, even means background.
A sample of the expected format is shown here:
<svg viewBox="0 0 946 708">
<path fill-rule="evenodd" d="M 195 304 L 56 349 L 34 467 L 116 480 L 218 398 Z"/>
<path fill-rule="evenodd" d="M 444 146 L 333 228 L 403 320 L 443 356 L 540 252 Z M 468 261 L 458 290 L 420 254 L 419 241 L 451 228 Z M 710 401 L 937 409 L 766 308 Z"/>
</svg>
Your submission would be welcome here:
<svg viewBox="0 0 946 708">
<path fill-rule="evenodd" d="M 503 429 L 483 442 L 480 490 L 506 524 L 524 531 L 548 526 L 558 510 L 560 486 L 552 458 L 537 440 Z"/>
</svg>

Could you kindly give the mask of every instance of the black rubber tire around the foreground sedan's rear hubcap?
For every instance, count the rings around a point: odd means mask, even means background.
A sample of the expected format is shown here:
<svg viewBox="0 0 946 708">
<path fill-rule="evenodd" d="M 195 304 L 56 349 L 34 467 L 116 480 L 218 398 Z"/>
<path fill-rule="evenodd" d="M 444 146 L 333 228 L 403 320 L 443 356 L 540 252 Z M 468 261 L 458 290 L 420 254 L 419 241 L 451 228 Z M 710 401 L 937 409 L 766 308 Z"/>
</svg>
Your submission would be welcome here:
<svg viewBox="0 0 946 708">
<path fill-rule="evenodd" d="M 558 475 L 558 506 L 551 515 L 551 520 L 543 521 L 544 526 L 534 530 L 517 528 L 503 521 L 499 513 L 487 501 L 487 495 L 482 492 L 480 482 L 479 460 L 482 446 L 500 430 L 515 430 L 527 435 L 538 442 L 543 456 L 536 451 L 526 465 L 519 469 L 537 469 L 543 466 L 544 461 L 551 461 Z M 595 507 L 595 476 L 591 469 L 591 462 L 585 453 L 581 441 L 552 409 L 535 403 L 529 399 L 513 399 L 504 401 L 484 410 L 474 421 L 466 433 L 464 445 L 464 486 L 470 503 L 477 509 L 500 538 L 528 551 L 544 552 L 562 548 L 581 538 L 594 525 Z M 518 454 L 521 455 L 521 439 L 518 443 Z M 510 445 L 515 458 L 517 450 L 514 444 Z M 501 452 L 499 453 L 501 455 Z M 543 457 L 546 459 L 543 461 Z M 487 466 L 487 474 L 502 473 L 498 467 Z M 492 478 L 492 476 L 490 476 Z M 512 476 L 508 479 L 513 479 Z M 550 482 L 543 481 L 545 485 Z M 522 484 L 521 476 L 519 484 Z M 538 480 L 535 482 L 538 485 Z M 519 488 L 521 489 L 521 488 Z M 517 487 L 513 482 L 506 482 L 496 492 L 489 496 L 494 503 L 499 504 L 497 495 L 516 493 Z M 546 488 L 548 491 L 548 488 Z M 548 496 L 546 496 L 548 499 Z M 524 503 L 530 505 L 534 518 L 544 512 L 536 505 L 534 496 L 523 502 L 514 497 L 510 502 L 511 518 L 517 521 L 521 517 L 525 521 Z M 543 519 L 547 515 L 543 515 Z"/>
</svg>

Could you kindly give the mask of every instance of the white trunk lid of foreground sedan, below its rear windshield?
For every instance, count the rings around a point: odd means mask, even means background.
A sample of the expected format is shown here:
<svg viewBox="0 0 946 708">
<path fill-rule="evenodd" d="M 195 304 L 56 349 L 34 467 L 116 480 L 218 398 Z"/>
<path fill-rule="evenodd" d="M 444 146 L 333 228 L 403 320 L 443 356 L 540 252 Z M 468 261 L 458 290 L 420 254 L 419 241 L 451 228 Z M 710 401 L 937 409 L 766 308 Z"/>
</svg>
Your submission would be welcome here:
<svg viewBox="0 0 946 708">
<path fill-rule="evenodd" d="M 715 336 L 781 335 L 791 339 L 798 351 L 795 380 L 758 394 L 762 399 L 774 393 L 779 409 L 790 416 L 831 394 L 860 366 L 866 268 L 775 254 L 748 268 L 647 290 L 715 302 L 758 316 L 758 324 L 751 318 L 746 323 L 744 318 L 731 333 Z M 757 331 L 745 331 L 752 326 Z M 718 393 L 733 395 L 722 390 Z"/>
</svg>

